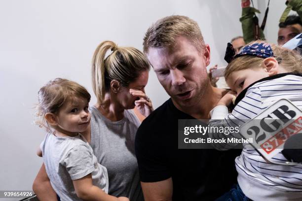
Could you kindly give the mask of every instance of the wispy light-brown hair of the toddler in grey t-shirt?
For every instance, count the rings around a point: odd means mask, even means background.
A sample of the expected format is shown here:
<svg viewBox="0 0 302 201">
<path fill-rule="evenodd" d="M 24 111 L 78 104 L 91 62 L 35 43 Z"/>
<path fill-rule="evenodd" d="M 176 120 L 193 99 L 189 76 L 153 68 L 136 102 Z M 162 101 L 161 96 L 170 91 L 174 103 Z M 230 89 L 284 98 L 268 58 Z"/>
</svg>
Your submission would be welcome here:
<svg viewBox="0 0 302 201">
<path fill-rule="evenodd" d="M 50 80 L 38 91 L 38 106 L 36 124 L 39 127 L 46 128 L 47 132 L 51 132 L 45 114 L 48 112 L 57 114 L 60 107 L 67 101 L 73 98 L 86 99 L 90 101 L 88 91 L 78 83 L 68 79 L 55 78 Z"/>
</svg>

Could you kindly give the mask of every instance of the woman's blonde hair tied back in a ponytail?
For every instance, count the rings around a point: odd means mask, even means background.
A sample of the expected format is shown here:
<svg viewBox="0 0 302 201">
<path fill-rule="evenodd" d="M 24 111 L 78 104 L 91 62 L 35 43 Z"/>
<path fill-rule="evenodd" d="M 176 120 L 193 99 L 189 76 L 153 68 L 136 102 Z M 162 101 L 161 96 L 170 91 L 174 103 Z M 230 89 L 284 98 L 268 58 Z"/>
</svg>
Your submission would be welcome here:
<svg viewBox="0 0 302 201">
<path fill-rule="evenodd" d="M 106 58 L 108 50 L 112 53 Z M 102 102 L 105 93 L 110 91 L 113 79 L 127 87 L 145 70 L 150 70 L 150 65 L 138 49 L 118 47 L 113 41 L 102 42 L 94 52 L 91 68 L 92 88 L 98 102 Z"/>
</svg>

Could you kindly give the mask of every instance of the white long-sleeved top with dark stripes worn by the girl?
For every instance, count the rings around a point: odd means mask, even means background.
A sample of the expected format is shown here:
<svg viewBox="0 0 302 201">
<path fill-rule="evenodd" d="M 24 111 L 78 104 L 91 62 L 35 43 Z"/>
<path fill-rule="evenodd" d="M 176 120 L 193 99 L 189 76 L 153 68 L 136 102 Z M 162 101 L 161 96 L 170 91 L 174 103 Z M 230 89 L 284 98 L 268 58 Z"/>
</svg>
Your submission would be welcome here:
<svg viewBox="0 0 302 201">
<path fill-rule="evenodd" d="M 236 105 L 231 114 L 227 114 L 224 120 L 212 119 L 210 127 L 243 125 L 265 108 L 280 99 L 291 100 L 302 109 L 302 77 L 297 75 L 286 75 L 280 78 L 266 80 L 256 83 L 250 87 L 245 97 Z M 215 108 L 211 111 L 215 113 Z M 212 138 L 238 137 L 240 134 L 209 134 Z M 236 144 L 214 144 L 216 149 L 227 150 Z M 273 160 L 276 162 L 287 161 L 279 153 Z M 256 150 L 249 144 L 239 157 L 235 159 L 238 171 L 238 182 L 242 191 L 253 200 L 269 200 L 261 195 L 281 195 L 286 200 L 302 200 L 302 166 L 278 166 L 267 163 Z M 261 184 L 261 185 L 259 185 Z M 267 192 L 264 192 L 267 191 Z M 271 200 L 274 200 L 273 198 Z M 298 200 L 299 200 L 298 199 Z"/>
</svg>

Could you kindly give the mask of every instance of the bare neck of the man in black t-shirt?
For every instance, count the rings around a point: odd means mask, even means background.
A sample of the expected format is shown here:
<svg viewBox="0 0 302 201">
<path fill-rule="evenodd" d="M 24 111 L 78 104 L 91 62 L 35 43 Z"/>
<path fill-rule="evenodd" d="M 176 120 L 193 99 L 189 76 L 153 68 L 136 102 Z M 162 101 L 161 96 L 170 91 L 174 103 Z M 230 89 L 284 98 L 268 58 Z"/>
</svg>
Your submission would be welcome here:
<svg viewBox="0 0 302 201">
<path fill-rule="evenodd" d="M 217 102 L 227 93 L 225 89 L 208 87 L 201 99 L 195 105 L 181 106 L 173 101 L 177 109 L 189 114 L 196 119 L 210 119 L 210 111 L 216 106 Z"/>
</svg>

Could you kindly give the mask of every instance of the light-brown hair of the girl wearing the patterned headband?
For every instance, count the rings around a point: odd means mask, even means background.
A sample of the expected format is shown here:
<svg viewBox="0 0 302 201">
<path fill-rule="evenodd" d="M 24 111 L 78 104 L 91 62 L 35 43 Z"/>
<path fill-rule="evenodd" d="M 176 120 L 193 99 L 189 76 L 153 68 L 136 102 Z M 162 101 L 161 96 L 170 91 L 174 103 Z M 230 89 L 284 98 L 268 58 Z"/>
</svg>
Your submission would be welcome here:
<svg viewBox="0 0 302 201">
<path fill-rule="evenodd" d="M 262 40 L 256 40 L 247 45 L 264 42 L 265 41 Z M 284 69 L 286 69 L 288 72 L 302 73 L 302 56 L 299 54 L 299 52 L 274 44 L 271 44 L 271 48 L 273 50 L 275 59 Z M 225 78 L 227 79 L 228 76 L 234 71 L 261 67 L 263 60 L 264 58 L 250 55 L 237 57 L 227 65 Z"/>
</svg>

